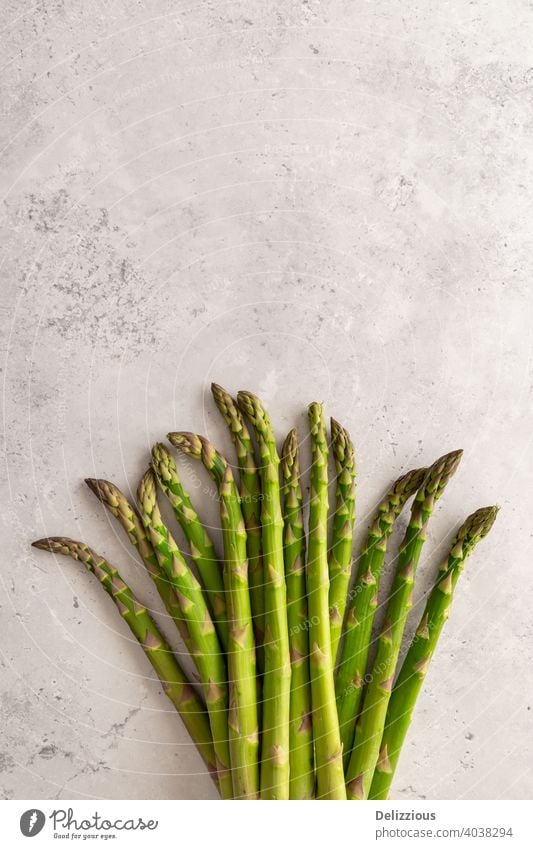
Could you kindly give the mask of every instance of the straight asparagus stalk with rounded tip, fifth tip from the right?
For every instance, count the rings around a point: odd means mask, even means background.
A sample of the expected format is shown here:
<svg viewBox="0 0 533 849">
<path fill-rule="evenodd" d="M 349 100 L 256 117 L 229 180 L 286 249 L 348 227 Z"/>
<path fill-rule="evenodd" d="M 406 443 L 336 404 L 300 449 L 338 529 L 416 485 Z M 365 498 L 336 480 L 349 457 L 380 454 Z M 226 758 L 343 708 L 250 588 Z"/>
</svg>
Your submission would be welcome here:
<svg viewBox="0 0 533 849">
<path fill-rule="evenodd" d="M 281 452 L 285 581 L 291 655 L 290 798 L 312 799 L 315 791 L 309 622 L 305 580 L 305 531 L 298 437 L 293 429 Z"/>
</svg>

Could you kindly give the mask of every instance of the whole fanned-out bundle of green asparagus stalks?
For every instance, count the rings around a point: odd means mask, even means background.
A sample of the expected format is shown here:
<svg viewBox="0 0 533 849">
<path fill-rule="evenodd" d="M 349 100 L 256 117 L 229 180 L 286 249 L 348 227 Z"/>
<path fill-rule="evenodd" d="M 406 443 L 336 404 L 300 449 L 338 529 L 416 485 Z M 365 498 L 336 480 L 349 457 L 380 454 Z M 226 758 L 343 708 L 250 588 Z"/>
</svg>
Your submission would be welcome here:
<svg viewBox="0 0 533 849">
<path fill-rule="evenodd" d="M 459 575 L 497 508 L 477 510 L 457 531 L 400 665 L 428 522 L 462 452 L 399 477 L 354 560 L 356 466 L 348 431 L 332 420 L 328 435 L 322 405 L 310 405 L 304 510 L 296 430 L 279 455 L 270 418 L 255 395 L 239 392 L 235 401 L 216 384 L 212 392 L 235 446 L 238 482 L 228 460 L 203 436 L 181 432 L 168 438 L 199 460 L 216 485 L 222 552 L 162 443 L 153 448 L 137 506 L 114 484 L 87 480 L 136 547 L 199 683 L 188 680 L 153 617 L 104 557 L 65 537 L 33 545 L 81 561 L 99 579 L 223 799 L 386 799 Z M 331 513 L 330 453 L 336 482 Z M 189 562 L 163 521 L 158 489 L 187 540 Z M 387 546 L 410 498 L 372 657 Z"/>
</svg>

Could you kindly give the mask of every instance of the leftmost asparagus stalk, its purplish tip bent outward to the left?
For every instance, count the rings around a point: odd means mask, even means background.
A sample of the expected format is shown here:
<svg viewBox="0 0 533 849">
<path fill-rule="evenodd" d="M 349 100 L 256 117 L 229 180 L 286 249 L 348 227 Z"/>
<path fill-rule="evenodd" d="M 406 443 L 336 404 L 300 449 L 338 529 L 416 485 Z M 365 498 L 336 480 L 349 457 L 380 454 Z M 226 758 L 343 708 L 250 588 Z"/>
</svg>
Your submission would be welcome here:
<svg viewBox="0 0 533 849">
<path fill-rule="evenodd" d="M 118 571 L 87 545 L 67 537 L 48 537 L 32 545 L 79 560 L 98 578 L 139 641 L 208 770 L 216 776 L 215 753 L 205 708 L 146 607 L 137 600 Z"/>
</svg>

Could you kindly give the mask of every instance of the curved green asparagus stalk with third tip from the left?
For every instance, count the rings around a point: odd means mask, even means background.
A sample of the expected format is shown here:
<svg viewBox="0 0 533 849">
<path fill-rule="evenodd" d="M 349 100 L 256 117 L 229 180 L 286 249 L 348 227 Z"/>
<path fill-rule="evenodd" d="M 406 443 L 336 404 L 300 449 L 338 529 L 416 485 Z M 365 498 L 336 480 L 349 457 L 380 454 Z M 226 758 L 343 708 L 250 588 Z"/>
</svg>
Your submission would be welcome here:
<svg viewBox="0 0 533 849">
<path fill-rule="evenodd" d="M 144 527 L 159 565 L 176 590 L 181 612 L 191 635 L 194 658 L 209 713 L 220 792 L 223 799 L 231 799 L 233 791 L 228 748 L 228 686 L 220 642 L 202 588 L 161 518 L 156 499 L 155 476 L 151 469 L 141 480 L 138 499 Z"/>
</svg>

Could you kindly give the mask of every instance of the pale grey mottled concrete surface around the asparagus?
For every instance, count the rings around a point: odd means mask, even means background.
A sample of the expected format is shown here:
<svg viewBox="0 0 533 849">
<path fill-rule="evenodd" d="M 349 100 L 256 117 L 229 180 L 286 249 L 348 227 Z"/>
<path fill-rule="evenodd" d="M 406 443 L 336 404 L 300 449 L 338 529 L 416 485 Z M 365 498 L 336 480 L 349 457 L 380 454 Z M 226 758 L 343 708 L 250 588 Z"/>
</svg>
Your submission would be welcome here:
<svg viewBox="0 0 533 849">
<path fill-rule="evenodd" d="M 465 449 L 418 600 L 502 510 L 394 795 L 531 797 L 531 4 L 1 7 L 1 795 L 214 796 L 96 582 L 29 543 L 92 543 L 155 606 L 82 480 L 135 490 L 174 427 L 229 451 L 216 379 L 280 438 L 314 398 L 346 423 L 358 540 L 392 477 Z"/>
</svg>

